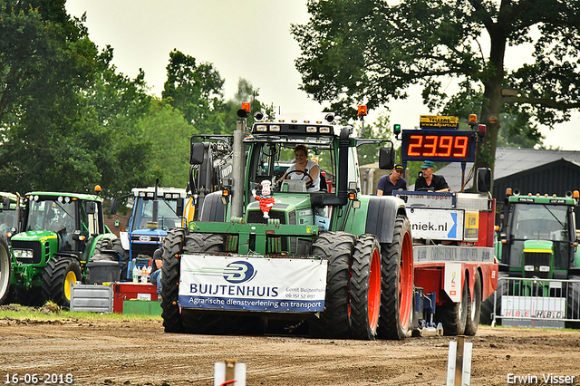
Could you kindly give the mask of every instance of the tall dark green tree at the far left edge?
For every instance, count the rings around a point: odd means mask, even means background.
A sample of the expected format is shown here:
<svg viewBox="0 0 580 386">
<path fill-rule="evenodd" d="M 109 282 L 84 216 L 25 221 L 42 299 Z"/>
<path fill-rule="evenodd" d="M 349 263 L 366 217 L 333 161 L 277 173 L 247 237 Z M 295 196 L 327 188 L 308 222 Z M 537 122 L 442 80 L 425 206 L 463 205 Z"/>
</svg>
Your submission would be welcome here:
<svg viewBox="0 0 580 386">
<path fill-rule="evenodd" d="M 0 180 L 5 189 L 81 188 L 95 173 L 77 146 L 96 46 L 64 1 L 0 0 Z"/>
</svg>

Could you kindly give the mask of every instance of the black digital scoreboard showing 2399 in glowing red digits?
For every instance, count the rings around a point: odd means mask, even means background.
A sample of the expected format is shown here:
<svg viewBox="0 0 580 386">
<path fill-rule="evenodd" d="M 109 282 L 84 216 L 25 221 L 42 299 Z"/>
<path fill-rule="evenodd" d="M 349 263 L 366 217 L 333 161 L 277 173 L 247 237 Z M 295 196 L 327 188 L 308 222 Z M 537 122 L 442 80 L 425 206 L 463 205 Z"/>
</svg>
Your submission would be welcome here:
<svg viewBox="0 0 580 386">
<path fill-rule="evenodd" d="M 405 130 L 401 160 L 473 162 L 476 133 L 459 130 Z"/>
</svg>

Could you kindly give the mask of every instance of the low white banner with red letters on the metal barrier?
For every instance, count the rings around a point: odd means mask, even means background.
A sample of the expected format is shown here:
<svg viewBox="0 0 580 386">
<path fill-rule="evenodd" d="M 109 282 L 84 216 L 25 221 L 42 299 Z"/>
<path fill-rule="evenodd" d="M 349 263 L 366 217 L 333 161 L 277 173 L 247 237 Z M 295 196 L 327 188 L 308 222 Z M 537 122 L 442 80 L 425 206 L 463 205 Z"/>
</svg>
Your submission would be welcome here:
<svg viewBox="0 0 580 386">
<path fill-rule="evenodd" d="M 565 297 L 501 296 L 501 315 L 507 318 L 564 319 Z"/>
</svg>

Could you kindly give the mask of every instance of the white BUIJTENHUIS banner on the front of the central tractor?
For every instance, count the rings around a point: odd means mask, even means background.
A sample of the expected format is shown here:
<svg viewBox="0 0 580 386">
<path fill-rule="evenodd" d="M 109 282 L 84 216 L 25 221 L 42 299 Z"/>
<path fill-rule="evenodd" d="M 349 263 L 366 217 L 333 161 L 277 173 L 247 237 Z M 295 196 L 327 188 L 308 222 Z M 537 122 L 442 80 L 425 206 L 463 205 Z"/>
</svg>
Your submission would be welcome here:
<svg viewBox="0 0 580 386">
<path fill-rule="evenodd" d="M 326 260 L 181 257 L 179 305 L 229 311 L 324 311 Z"/>
</svg>

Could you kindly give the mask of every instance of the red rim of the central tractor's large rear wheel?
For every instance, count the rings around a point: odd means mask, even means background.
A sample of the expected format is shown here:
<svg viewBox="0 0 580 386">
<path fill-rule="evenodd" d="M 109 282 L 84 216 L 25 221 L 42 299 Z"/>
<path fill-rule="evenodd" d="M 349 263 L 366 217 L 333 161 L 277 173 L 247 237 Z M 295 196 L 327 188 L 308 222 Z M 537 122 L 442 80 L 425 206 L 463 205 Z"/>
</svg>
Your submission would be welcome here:
<svg viewBox="0 0 580 386">
<path fill-rule="evenodd" d="M 411 235 L 405 233 L 401 247 L 401 266 L 399 271 L 399 317 L 401 326 L 407 327 L 411 322 L 413 294 L 413 252 Z"/>
</svg>

